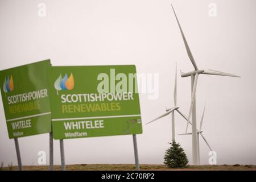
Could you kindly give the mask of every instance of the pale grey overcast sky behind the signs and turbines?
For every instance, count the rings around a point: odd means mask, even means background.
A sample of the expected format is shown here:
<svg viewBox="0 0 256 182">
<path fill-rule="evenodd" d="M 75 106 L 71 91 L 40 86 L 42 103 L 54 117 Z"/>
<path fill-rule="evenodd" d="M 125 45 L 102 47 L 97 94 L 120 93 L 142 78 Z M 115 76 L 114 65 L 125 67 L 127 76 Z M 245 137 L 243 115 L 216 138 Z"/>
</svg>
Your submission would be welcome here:
<svg viewBox="0 0 256 182">
<path fill-rule="evenodd" d="M 46 17 L 38 4 L 46 4 Z M 52 65 L 135 64 L 138 73 L 159 73 L 159 98 L 140 95 L 143 134 L 137 136 L 139 162 L 162 164 L 171 140 L 171 118 L 145 126 L 174 105 L 175 62 L 192 71 L 174 13 L 199 68 L 234 73 L 242 78 L 200 75 L 197 122 L 204 103 L 204 135 L 217 152 L 217 164 L 256 164 L 256 1 L 254 0 L 2 0 L 0 1 L 0 70 L 51 59 Z M 208 15 L 216 3 L 217 16 Z M 177 104 L 188 114 L 190 78 L 177 77 Z M 0 99 L 2 103 L 2 99 Z M 16 162 L 14 140 L 8 138 L 0 104 L 0 161 Z M 186 123 L 176 114 L 176 133 Z M 191 160 L 191 137 L 176 136 Z M 48 134 L 19 139 L 24 165 L 37 164 L 47 152 Z M 67 164 L 134 163 L 131 135 L 64 140 Z M 200 139 L 201 164 L 208 147 Z M 60 164 L 59 141 L 54 141 Z"/>
</svg>

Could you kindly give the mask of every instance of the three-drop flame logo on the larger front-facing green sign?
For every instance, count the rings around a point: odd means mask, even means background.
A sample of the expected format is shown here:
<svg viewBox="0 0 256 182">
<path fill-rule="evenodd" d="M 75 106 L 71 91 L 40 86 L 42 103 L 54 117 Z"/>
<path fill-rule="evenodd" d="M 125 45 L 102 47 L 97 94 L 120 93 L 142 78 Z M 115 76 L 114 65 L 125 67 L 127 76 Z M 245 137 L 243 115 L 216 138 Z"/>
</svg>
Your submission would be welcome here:
<svg viewBox="0 0 256 182">
<path fill-rule="evenodd" d="M 54 83 L 54 87 L 57 90 L 57 95 L 59 95 L 60 90 L 72 90 L 75 86 L 75 81 L 73 74 L 71 73 L 68 77 L 67 73 L 64 77 L 60 76 L 57 78 L 57 80 Z"/>
</svg>

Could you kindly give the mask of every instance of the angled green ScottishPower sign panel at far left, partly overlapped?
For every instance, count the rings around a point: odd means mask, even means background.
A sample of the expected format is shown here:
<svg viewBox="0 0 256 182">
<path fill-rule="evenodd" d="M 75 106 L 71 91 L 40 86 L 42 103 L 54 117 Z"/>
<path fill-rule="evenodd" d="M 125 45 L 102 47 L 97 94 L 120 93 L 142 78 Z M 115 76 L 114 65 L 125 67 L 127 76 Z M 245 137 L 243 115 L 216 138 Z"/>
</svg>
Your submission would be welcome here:
<svg viewBox="0 0 256 182">
<path fill-rule="evenodd" d="M 50 60 L 0 71 L 9 138 L 51 132 L 48 96 Z"/>
</svg>

